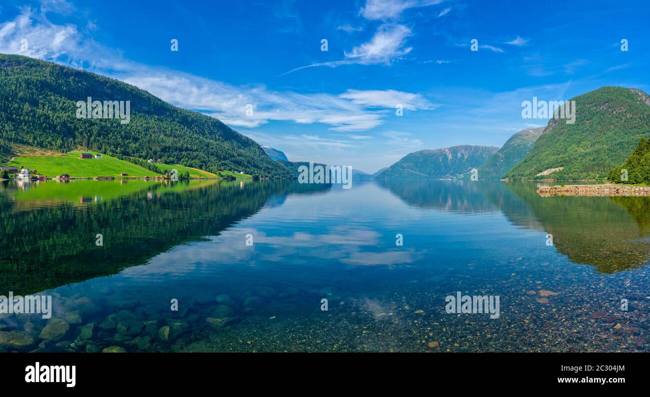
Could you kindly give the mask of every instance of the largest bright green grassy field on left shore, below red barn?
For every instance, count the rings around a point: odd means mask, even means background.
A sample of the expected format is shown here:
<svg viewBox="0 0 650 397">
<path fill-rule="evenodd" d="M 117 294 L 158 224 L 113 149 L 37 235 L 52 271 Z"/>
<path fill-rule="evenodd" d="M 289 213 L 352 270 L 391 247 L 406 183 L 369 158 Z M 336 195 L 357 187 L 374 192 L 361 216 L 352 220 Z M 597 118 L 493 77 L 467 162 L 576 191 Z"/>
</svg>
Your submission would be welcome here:
<svg viewBox="0 0 650 397">
<path fill-rule="evenodd" d="M 98 152 L 86 152 L 101 154 L 103 159 L 79 158 L 81 152 L 69 152 L 59 157 L 16 157 L 7 165 L 15 167 L 26 167 L 38 171 L 38 174 L 55 177 L 61 174 L 68 174 L 75 178 L 94 178 L 96 176 L 120 176 L 120 173 L 127 173 L 129 176 L 156 176 L 157 174 L 148 169 L 133 163 L 106 156 Z"/>
</svg>

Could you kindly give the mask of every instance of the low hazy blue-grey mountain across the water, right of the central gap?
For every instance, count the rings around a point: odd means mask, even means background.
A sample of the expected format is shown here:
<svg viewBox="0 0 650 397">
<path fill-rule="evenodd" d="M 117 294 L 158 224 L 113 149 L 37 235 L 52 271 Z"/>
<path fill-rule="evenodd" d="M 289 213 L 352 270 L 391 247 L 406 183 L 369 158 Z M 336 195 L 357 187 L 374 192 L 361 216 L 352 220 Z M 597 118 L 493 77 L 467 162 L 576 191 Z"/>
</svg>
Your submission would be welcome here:
<svg viewBox="0 0 650 397">
<path fill-rule="evenodd" d="M 435 150 L 409 153 L 376 176 L 376 179 L 394 178 L 461 178 L 471 169 L 478 168 L 498 147 L 459 145 Z"/>
</svg>

